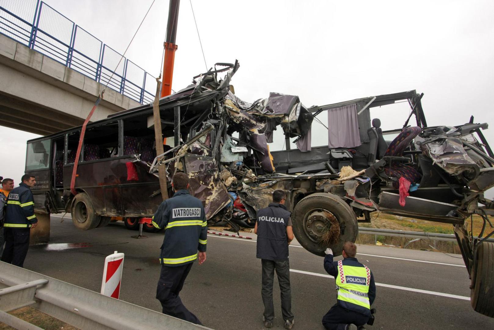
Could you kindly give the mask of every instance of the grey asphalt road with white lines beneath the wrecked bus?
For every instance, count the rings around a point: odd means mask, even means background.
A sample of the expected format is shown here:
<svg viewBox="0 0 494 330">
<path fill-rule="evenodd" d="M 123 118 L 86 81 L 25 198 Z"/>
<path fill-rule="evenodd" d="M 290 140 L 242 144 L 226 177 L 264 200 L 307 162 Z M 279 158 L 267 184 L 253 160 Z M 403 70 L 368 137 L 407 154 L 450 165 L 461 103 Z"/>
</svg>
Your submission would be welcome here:
<svg viewBox="0 0 494 330">
<path fill-rule="evenodd" d="M 121 299 L 161 311 L 155 294 L 164 233 L 134 239 L 136 232 L 119 224 L 82 232 L 70 215 L 60 221 L 52 216 L 50 244 L 32 246 L 25 268 L 99 292 L 105 256 L 124 252 Z M 263 329 L 260 261 L 255 236 L 246 235 L 254 239 L 208 235 L 207 260 L 194 264 L 180 293 L 185 306 L 212 329 Z M 323 258 L 296 242 L 289 251 L 293 329 L 322 330 L 321 319 L 336 301 L 334 280 L 326 275 Z M 376 321 L 367 329 L 494 329 L 494 319 L 470 307 L 461 256 L 359 245 L 357 257 L 377 283 Z M 274 329 L 283 329 L 276 286 Z"/>
</svg>

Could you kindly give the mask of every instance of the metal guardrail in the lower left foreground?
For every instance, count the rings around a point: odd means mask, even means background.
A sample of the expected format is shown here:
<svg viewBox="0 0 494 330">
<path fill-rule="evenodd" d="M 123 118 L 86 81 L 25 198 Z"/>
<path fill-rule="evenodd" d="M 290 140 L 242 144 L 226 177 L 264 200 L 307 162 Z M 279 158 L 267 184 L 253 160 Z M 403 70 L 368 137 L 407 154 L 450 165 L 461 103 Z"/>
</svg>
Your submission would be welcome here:
<svg viewBox="0 0 494 330">
<path fill-rule="evenodd" d="M 0 320 L 40 329 L 6 312 L 31 306 L 79 329 L 209 329 L 0 262 Z"/>
</svg>

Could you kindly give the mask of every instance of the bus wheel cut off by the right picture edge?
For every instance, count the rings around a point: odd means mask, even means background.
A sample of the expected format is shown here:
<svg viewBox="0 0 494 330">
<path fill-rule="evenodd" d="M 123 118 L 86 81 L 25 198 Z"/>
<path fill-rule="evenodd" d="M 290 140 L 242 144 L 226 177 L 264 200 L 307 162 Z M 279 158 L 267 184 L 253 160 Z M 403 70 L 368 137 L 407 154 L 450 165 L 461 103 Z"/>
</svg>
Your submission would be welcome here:
<svg viewBox="0 0 494 330">
<path fill-rule="evenodd" d="M 494 243 L 477 248 L 472 268 L 470 302 L 476 312 L 494 317 Z"/>
</svg>

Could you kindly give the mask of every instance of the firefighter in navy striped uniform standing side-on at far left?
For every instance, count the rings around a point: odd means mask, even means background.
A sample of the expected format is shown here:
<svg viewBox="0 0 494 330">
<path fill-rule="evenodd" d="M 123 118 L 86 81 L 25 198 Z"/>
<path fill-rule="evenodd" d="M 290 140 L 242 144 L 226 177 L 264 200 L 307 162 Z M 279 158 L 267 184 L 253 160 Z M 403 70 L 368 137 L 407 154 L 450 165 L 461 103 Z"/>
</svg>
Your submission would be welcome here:
<svg viewBox="0 0 494 330">
<path fill-rule="evenodd" d="M 36 184 L 36 178 L 23 175 L 19 187 L 10 190 L 5 207 L 3 236 L 5 249 L 1 261 L 23 267 L 24 259 L 29 249 L 31 228 L 38 225 L 34 214 L 34 199 L 31 188 Z"/>
</svg>

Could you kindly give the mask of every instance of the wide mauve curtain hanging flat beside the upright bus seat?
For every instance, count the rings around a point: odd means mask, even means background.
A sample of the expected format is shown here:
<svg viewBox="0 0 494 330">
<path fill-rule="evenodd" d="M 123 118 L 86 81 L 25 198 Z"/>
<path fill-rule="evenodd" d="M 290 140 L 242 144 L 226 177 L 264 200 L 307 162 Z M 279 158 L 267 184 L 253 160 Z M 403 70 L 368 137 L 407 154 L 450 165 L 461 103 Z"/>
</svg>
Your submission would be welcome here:
<svg viewBox="0 0 494 330">
<path fill-rule="evenodd" d="M 356 104 L 328 110 L 328 147 L 352 148 L 361 145 Z"/>
</svg>

